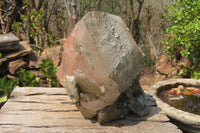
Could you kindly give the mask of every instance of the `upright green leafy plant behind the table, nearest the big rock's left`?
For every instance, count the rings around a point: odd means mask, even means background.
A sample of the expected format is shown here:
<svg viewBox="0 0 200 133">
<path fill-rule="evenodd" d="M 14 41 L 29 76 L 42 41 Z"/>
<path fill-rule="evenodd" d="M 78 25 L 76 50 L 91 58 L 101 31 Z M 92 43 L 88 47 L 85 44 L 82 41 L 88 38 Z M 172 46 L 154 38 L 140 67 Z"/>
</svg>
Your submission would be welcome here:
<svg viewBox="0 0 200 133">
<path fill-rule="evenodd" d="M 58 85 L 57 69 L 49 58 L 43 59 L 42 64 L 40 64 L 40 72 L 46 77 L 49 87 L 56 87 Z"/>
</svg>

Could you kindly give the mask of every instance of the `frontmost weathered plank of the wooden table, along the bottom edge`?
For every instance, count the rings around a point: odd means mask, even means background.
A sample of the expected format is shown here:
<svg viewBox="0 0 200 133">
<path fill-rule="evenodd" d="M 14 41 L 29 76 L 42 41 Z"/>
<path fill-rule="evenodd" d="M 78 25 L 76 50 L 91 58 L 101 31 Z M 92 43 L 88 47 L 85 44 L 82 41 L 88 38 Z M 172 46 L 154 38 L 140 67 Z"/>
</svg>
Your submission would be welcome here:
<svg viewBox="0 0 200 133">
<path fill-rule="evenodd" d="M 135 125 L 134 125 L 135 124 Z M 20 132 L 20 133 L 180 133 L 180 130 L 174 130 L 176 127 L 169 123 L 158 123 L 158 122 L 140 122 L 134 123 L 130 126 L 110 126 L 110 125 L 97 125 L 97 126 L 51 126 L 51 127 L 40 127 L 40 126 L 28 126 L 21 128 L 21 125 L 4 126 L 0 129 L 2 132 Z M 165 130 L 163 130 L 165 129 Z"/>
</svg>

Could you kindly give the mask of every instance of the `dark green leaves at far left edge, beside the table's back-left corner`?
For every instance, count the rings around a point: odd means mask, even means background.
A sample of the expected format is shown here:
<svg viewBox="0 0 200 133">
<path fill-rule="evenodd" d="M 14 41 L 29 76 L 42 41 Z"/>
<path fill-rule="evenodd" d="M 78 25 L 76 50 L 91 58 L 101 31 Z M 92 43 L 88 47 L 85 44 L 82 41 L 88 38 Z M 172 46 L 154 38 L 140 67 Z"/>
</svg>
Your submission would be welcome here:
<svg viewBox="0 0 200 133">
<path fill-rule="evenodd" d="M 0 94 L 9 94 L 12 92 L 13 88 L 18 84 L 18 80 L 16 78 L 7 79 L 6 76 L 0 78 Z"/>
</svg>

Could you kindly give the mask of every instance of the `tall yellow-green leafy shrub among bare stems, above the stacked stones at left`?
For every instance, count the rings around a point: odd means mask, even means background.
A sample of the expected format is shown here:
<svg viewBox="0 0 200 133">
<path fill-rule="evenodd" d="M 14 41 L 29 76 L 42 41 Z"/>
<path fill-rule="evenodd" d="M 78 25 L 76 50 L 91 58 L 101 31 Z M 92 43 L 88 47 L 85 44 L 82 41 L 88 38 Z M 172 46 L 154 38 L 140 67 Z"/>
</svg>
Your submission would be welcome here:
<svg viewBox="0 0 200 133">
<path fill-rule="evenodd" d="M 23 39 L 33 44 L 31 47 L 34 50 L 41 53 L 44 48 L 57 45 L 58 38 L 48 30 L 47 22 L 44 23 L 44 11 L 32 8 L 30 3 L 30 0 L 23 0 L 22 9 L 18 10 L 20 21 L 14 21 L 11 28 L 18 37 L 23 36 Z M 61 15 L 61 19 L 64 19 L 64 14 Z"/>
</svg>

